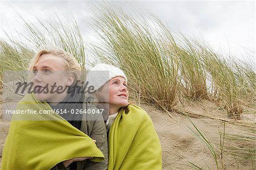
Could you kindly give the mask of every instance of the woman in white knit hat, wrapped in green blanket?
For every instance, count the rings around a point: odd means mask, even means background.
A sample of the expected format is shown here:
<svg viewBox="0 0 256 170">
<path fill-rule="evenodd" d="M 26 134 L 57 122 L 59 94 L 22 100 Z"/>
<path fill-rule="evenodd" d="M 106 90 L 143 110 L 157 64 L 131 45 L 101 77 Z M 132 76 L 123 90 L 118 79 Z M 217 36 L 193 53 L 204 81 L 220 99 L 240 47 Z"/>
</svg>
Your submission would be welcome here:
<svg viewBox="0 0 256 170">
<path fill-rule="evenodd" d="M 86 81 L 105 103 L 109 142 L 108 169 L 162 169 L 162 150 L 154 125 L 143 109 L 129 103 L 127 77 L 121 69 L 97 64 Z"/>
</svg>

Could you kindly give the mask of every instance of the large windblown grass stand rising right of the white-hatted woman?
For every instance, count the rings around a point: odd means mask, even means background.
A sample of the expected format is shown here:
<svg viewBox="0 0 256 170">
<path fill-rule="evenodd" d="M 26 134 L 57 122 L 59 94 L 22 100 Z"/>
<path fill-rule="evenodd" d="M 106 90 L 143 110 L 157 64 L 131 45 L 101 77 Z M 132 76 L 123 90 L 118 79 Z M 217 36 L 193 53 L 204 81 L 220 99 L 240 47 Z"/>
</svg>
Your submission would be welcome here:
<svg viewBox="0 0 256 170">
<path fill-rule="evenodd" d="M 255 102 L 253 65 L 172 32 L 154 15 L 138 20 L 111 7 L 101 11 L 94 23 L 102 40 L 93 46 L 97 62 L 121 67 L 147 103 L 174 111 L 181 98 L 209 99 L 241 119 L 243 106 Z"/>
</svg>

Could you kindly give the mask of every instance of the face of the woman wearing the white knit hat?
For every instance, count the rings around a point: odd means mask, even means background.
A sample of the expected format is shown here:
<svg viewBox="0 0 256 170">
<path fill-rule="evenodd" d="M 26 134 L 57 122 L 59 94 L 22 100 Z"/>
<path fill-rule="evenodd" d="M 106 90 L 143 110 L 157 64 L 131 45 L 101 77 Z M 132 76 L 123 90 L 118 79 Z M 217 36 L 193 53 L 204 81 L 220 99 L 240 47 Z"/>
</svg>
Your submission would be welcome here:
<svg viewBox="0 0 256 170">
<path fill-rule="evenodd" d="M 109 101 L 109 108 L 119 109 L 128 105 L 129 93 L 127 83 L 123 77 L 114 77 L 102 87 L 101 93 L 105 101 Z"/>
</svg>

